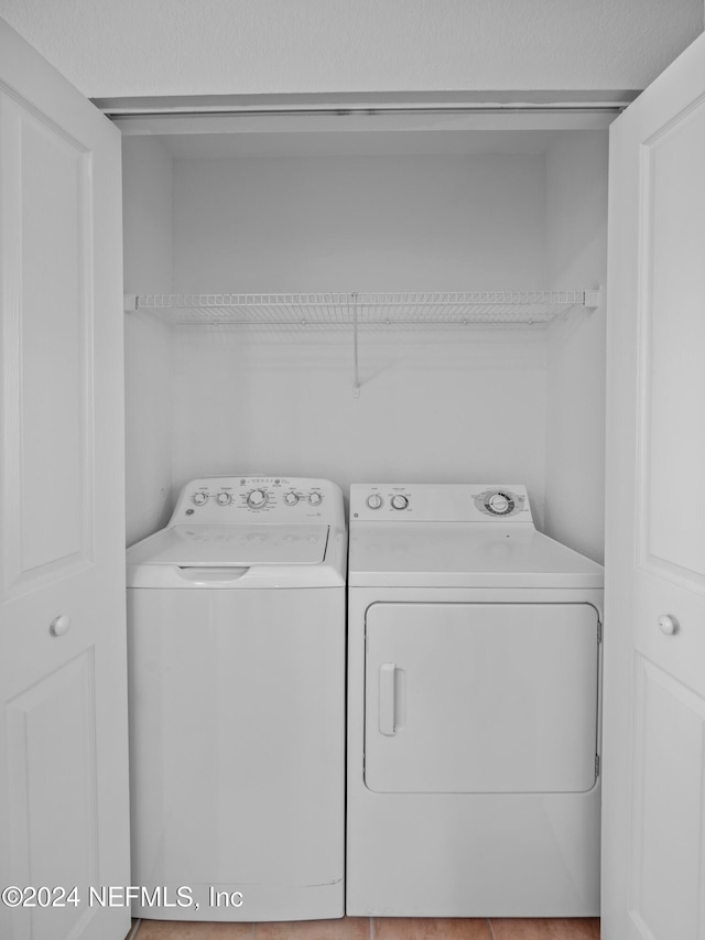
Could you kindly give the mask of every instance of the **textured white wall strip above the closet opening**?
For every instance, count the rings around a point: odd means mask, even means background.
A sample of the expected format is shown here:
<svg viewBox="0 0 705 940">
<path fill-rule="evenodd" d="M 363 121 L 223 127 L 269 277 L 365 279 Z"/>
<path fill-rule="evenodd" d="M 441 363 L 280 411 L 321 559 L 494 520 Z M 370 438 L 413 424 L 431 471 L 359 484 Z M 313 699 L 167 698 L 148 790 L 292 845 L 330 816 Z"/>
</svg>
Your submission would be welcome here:
<svg viewBox="0 0 705 940">
<path fill-rule="evenodd" d="M 84 94 L 643 88 L 703 0 L 0 0 Z"/>
</svg>

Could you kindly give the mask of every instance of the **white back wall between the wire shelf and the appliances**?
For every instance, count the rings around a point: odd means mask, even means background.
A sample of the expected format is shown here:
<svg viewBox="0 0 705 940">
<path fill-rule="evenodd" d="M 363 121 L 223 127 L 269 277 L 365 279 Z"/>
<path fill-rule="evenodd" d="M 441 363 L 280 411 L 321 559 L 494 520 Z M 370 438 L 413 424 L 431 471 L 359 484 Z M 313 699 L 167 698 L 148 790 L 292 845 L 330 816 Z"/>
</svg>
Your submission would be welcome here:
<svg viewBox="0 0 705 940">
<path fill-rule="evenodd" d="M 175 480 L 208 474 L 351 482 L 522 482 L 543 510 L 541 334 L 365 334 L 352 398 L 349 333 L 319 342 L 178 331 Z"/>
</svg>

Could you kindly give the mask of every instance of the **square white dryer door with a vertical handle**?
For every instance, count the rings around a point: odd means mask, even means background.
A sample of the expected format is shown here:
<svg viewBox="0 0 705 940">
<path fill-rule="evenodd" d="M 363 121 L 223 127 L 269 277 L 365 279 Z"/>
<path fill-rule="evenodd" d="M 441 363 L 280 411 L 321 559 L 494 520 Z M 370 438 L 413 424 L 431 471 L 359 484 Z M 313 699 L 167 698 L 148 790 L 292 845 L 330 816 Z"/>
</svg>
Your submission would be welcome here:
<svg viewBox="0 0 705 940">
<path fill-rule="evenodd" d="M 379 792 L 589 790 L 597 625 L 589 604 L 372 604 L 366 785 Z"/>
</svg>

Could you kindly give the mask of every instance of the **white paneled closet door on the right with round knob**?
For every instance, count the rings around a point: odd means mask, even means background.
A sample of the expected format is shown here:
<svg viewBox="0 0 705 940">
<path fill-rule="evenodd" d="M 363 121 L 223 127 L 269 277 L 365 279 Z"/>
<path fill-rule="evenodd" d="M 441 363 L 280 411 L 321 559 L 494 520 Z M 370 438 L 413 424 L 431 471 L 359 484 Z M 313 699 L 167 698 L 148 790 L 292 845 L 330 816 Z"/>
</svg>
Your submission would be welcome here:
<svg viewBox="0 0 705 940">
<path fill-rule="evenodd" d="M 603 938 L 705 938 L 705 37 L 612 125 Z"/>
</svg>

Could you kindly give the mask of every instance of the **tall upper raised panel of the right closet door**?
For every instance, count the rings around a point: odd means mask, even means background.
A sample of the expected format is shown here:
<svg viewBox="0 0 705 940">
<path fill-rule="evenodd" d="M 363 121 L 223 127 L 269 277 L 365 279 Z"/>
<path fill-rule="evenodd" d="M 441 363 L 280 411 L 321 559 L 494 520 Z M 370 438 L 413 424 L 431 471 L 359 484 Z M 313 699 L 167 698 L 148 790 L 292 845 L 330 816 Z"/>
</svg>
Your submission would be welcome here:
<svg viewBox="0 0 705 940">
<path fill-rule="evenodd" d="M 705 98 L 642 143 L 640 562 L 705 591 Z M 698 182 L 701 183 L 698 185 Z"/>
</svg>

